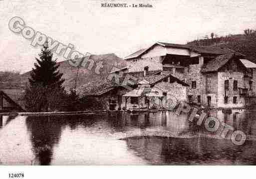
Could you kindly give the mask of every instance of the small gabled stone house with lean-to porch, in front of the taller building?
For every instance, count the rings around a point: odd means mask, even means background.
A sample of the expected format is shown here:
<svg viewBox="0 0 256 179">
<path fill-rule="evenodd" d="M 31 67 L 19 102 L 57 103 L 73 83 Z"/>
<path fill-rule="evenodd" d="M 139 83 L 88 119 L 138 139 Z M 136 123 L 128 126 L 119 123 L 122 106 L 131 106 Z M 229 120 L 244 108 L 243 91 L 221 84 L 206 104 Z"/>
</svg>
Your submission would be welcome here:
<svg viewBox="0 0 256 179">
<path fill-rule="evenodd" d="M 186 88 L 189 86 L 174 77 L 170 71 L 162 70 L 153 75 L 140 77 L 137 84 L 137 88 L 123 95 L 123 107 L 126 109 L 168 107 L 171 105 L 168 103 L 171 97 L 171 100 L 186 100 Z"/>
</svg>

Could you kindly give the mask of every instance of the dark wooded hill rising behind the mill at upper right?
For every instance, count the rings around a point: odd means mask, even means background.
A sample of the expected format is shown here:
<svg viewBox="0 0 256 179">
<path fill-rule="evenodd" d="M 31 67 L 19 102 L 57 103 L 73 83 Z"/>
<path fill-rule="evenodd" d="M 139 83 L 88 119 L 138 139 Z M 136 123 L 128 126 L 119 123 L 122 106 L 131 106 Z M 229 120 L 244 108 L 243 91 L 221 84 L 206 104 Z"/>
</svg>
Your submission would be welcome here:
<svg viewBox="0 0 256 179">
<path fill-rule="evenodd" d="M 247 55 L 248 60 L 256 63 L 256 35 L 228 35 L 225 37 L 194 40 L 187 44 L 192 46 L 201 45 L 230 48 Z"/>
</svg>

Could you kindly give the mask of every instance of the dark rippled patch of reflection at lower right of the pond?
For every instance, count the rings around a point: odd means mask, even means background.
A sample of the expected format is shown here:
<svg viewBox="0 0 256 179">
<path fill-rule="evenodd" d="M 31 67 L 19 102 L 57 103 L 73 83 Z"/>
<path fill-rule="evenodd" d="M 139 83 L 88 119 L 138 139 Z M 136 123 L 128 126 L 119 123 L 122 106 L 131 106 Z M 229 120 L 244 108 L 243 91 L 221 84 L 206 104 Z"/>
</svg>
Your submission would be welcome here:
<svg viewBox="0 0 256 179">
<path fill-rule="evenodd" d="M 255 141 L 234 146 L 213 138 L 131 137 L 127 146 L 154 165 L 255 165 Z"/>
</svg>

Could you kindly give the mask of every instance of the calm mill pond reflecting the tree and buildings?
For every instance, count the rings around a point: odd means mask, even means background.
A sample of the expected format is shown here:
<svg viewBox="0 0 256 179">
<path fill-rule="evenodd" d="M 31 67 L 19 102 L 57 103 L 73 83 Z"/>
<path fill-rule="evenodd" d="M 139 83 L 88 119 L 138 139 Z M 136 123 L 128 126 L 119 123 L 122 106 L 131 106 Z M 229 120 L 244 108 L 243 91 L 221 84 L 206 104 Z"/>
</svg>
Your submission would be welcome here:
<svg viewBox="0 0 256 179">
<path fill-rule="evenodd" d="M 2 116 L 1 165 L 255 165 L 255 112 L 211 115 L 249 135 L 236 146 L 173 112 Z"/>
</svg>

